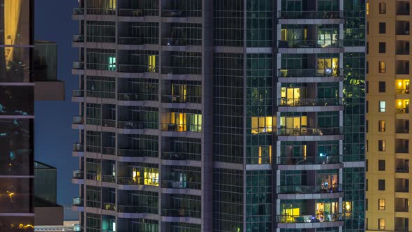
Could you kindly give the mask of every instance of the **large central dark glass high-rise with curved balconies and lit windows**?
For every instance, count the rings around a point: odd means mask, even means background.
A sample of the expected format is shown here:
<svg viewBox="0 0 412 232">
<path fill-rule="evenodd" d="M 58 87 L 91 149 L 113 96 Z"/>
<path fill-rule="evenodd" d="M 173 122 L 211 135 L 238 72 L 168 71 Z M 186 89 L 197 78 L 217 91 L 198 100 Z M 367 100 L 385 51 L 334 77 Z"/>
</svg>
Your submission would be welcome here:
<svg viewBox="0 0 412 232">
<path fill-rule="evenodd" d="M 84 231 L 365 230 L 365 2 L 79 4 Z"/>
</svg>

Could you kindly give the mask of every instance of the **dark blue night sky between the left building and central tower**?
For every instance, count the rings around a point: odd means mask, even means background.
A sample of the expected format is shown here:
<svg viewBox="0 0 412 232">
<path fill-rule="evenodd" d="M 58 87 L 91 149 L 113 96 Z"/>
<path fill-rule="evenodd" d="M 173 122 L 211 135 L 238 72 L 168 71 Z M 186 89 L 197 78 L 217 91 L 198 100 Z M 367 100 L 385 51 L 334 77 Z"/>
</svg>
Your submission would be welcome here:
<svg viewBox="0 0 412 232">
<path fill-rule="evenodd" d="M 78 103 L 71 102 L 72 89 L 78 89 L 78 77 L 71 75 L 71 66 L 78 50 L 71 48 L 78 22 L 71 19 L 77 0 L 35 0 L 36 40 L 58 43 L 57 78 L 65 82 L 66 101 L 35 103 L 34 159 L 57 168 L 57 203 L 70 207 L 78 186 L 71 184 L 73 171 L 78 169 L 78 158 L 71 156 L 78 131 L 71 129 L 72 117 L 78 114 Z"/>
</svg>

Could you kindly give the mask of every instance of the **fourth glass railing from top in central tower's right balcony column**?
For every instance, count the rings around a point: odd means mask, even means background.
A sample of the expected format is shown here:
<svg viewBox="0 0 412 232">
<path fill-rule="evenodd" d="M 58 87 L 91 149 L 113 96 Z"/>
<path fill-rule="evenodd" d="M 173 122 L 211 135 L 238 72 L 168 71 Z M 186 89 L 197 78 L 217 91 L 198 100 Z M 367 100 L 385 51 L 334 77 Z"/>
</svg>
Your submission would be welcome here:
<svg viewBox="0 0 412 232">
<path fill-rule="evenodd" d="M 278 99 L 278 106 L 341 106 L 341 98 L 331 99 Z"/>
</svg>

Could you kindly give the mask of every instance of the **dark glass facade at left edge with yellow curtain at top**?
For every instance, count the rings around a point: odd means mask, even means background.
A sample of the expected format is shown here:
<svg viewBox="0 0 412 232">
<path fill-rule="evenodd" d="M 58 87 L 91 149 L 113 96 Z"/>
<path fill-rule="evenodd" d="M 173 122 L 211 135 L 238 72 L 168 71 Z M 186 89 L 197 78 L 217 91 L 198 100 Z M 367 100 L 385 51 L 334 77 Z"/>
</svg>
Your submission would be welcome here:
<svg viewBox="0 0 412 232">
<path fill-rule="evenodd" d="M 34 231 L 33 7 L 30 0 L 0 1 L 0 229 L 4 231 Z"/>
</svg>

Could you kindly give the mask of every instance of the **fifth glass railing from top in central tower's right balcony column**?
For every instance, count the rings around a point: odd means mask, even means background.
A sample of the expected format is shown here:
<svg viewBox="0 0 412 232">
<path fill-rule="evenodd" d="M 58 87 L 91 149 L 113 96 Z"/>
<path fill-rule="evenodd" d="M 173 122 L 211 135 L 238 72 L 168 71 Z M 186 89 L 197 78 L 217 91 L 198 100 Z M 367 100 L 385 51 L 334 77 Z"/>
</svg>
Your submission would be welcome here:
<svg viewBox="0 0 412 232">
<path fill-rule="evenodd" d="M 332 136 L 343 133 L 342 127 L 325 127 L 325 128 L 278 128 L 279 136 Z"/>
</svg>

